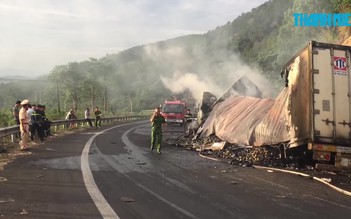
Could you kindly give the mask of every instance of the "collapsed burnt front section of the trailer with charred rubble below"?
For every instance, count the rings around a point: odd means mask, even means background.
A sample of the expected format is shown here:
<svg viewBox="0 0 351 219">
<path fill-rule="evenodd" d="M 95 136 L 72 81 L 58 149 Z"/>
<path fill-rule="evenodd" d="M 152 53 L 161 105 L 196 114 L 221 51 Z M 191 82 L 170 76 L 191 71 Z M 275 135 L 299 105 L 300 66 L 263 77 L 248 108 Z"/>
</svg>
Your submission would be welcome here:
<svg viewBox="0 0 351 219">
<path fill-rule="evenodd" d="M 306 143 L 311 132 L 310 107 L 305 106 L 309 103 L 305 91 L 297 89 L 308 87 L 299 78 L 304 77 L 299 75 L 305 70 L 305 58 L 300 55 L 286 68 L 291 71 L 289 86 L 275 99 L 262 98 L 258 86 L 247 77 L 219 98 L 204 92 L 197 132 L 169 137 L 166 142 L 239 166 L 313 169 Z"/>
</svg>

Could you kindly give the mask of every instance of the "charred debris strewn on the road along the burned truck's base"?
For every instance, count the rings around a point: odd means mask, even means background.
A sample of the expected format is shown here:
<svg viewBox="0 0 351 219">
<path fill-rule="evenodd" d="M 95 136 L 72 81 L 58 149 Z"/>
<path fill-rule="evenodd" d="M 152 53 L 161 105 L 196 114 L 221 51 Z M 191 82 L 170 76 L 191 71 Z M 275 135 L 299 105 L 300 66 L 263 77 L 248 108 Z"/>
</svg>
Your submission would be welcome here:
<svg viewBox="0 0 351 219">
<path fill-rule="evenodd" d="M 240 167 L 265 166 L 288 171 L 298 170 L 308 173 L 312 177 L 330 178 L 331 183 L 341 186 L 346 190 L 350 190 L 351 188 L 349 180 L 351 178 L 350 172 L 346 170 L 337 172 L 334 170 L 320 170 L 317 168 L 317 165 L 314 167 L 313 163 L 309 163 L 304 159 L 305 154 L 301 150 L 286 152 L 281 145 L 253 147 L 231 144 L 223 141 L 216 135 L 200 138 L 186 133 L 170 132 L 165 135 L 164 139 L 165 143 L 169 145 L 197 151 L 201 157 L 206 159 L 221 161 Z M 223 174 L 225 171 L 221 173 Z"/>
</svg>

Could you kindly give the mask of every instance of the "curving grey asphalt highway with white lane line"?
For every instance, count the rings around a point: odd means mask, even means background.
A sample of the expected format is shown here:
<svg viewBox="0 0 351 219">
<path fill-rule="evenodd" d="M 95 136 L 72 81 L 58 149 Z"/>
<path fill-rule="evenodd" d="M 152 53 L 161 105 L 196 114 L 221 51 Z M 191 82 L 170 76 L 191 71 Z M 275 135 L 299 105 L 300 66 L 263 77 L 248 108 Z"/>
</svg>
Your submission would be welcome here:
<svg viewBox="0 0 351 219">
<path fill-rule="evenodd" d="M 165 134 L 170 135 L 170 133 Z M 351 218 L 311 179 L 163 145 L 146 122 L 50 138 L 0 171 L 2 218 Z"/>
</svg>

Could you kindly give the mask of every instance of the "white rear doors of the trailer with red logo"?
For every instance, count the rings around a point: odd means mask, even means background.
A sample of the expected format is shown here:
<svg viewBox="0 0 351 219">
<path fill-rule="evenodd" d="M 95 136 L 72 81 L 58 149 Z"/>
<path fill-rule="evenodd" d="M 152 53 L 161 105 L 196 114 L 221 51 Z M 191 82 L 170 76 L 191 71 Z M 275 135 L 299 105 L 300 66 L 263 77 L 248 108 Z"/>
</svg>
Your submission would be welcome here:
<svg viewBox="0 0 351 219">
<path fill-rule="evenodd" d="M 315 140 L 350 144 L 350 52 L 313 47 L 313 123 Z"/>
</svg>

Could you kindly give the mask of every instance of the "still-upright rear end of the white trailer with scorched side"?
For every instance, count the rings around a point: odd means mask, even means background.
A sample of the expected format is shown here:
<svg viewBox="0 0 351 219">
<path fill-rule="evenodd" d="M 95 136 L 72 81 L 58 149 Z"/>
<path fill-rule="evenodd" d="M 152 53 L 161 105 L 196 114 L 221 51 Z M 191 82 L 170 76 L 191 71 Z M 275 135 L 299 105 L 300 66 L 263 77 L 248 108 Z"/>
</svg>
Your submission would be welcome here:
<svg viewBox="0 0 351 219">
<path fill-rule="evenodd" d="M 296 139 L 313 159 L 351 167 L 351 47 L 311 41 L 282 72 Z"/>
</svg>

